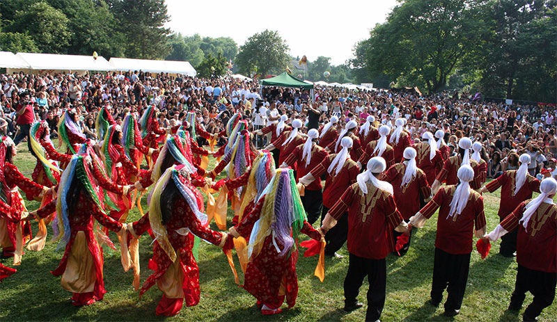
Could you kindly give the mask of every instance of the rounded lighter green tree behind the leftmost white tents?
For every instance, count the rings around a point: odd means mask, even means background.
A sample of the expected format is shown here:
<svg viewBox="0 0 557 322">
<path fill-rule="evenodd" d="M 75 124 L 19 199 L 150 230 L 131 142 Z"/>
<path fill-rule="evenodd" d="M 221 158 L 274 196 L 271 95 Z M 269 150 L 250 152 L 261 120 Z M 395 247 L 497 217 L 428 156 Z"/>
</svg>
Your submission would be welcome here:
<svg viewBox="0 0 557 322">
<path fill-rule="evenodd" d="M 17 10 L 13 22 L 6 26 L 6 31 L 25 31 L 39 51 L 63 54 L 71 37 L 68 22 L 64 13 L 52 8 L 47 2 L 40 1 Z"/>
</svg>

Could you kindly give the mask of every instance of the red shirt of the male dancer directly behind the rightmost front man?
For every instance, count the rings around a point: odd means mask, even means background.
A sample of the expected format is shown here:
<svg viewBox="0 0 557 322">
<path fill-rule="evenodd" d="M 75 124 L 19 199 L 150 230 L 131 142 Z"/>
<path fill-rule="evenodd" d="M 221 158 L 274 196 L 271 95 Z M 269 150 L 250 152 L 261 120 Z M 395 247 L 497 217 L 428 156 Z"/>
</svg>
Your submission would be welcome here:
<svg viewBox="0 0 557 322">
<path fill-rule="evenodd" d="M 521 202 L 531 199 L 534 191 L 540 192 L 540 180 L 527 174 L 524 184 L 515 195 L 516 177 L 517 170 L 508 170 L 485 185 L 490 193 L 501 187 L 501 202 L 499 202 L 499 212 L 497 213 L 501 219 L 508 216 Z"/>
</svg>

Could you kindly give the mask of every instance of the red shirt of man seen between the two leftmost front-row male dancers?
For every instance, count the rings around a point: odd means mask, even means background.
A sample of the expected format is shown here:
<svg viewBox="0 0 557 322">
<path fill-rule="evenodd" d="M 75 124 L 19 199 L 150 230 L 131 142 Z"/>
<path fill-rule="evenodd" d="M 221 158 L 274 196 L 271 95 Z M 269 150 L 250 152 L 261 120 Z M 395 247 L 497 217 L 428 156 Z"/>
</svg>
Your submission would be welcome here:
<svg viewBox="0 0 557 322">
<path fill-rule="evenodd" d="M 384 174 L 384 180 L 393 185 L 393 196 L 395 198 L 396 206 L 402 218 L 408 220 L 420 210 L 420 200 L 430 198 L 431 188 L 427 184 L 425 174 L 422 170 L 417 169 L 416 177 L 406 186 L 401 187 L 402 177 L 406 171 L 405 163 L 397 163 Z"/>
</svg>

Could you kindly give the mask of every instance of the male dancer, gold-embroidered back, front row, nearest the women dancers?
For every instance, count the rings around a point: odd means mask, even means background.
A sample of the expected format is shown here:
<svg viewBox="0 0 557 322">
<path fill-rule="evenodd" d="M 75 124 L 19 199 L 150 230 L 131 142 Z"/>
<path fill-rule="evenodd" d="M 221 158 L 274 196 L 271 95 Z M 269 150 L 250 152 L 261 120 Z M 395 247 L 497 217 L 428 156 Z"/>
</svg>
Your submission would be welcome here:
<svg viewBox="0 0 557 322">
<path fill-rule="evenodd" d="M 385 257 L 395 250 L 393 230 L 406 232 L 407 225 L 396 208 L 393 186 L 380 181 L 386 169 L 379 156 L 368 161 L 367 170 L 358 175 L 335 205 L 329 209 L 321 226 L 327 232 L 348 211 L 348 252 L 350 262 L 344 280 L 345 311 L 363 306 L 357 300 L 364 277 L 368 277 L 366 321 L 381 317 L 386 297 Z"/>
</svg>

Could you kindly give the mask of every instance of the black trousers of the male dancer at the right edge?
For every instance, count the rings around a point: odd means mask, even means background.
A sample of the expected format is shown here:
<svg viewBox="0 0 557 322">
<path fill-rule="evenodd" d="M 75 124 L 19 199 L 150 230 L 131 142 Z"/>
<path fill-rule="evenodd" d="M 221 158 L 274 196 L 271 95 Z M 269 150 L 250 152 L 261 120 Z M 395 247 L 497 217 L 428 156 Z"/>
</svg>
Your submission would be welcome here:
<svg viewBox="0 0 557 322">
<path fill-rule="evenodd" d="M 542 309 L 553 303 L 555 298 L 555 287 L 557 286 L 557 273 L 546 273 L 534 271 L 518 265 L 517 282 L 515 291 L 510 296 L 510 306 L 521 307 L 529 291 L 534 296 L 532 303 L 524 311 L 524 321 L 538 317 Z"/>
</svg>

